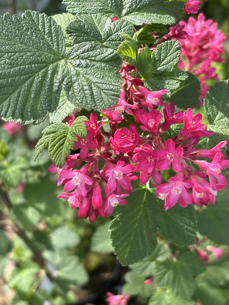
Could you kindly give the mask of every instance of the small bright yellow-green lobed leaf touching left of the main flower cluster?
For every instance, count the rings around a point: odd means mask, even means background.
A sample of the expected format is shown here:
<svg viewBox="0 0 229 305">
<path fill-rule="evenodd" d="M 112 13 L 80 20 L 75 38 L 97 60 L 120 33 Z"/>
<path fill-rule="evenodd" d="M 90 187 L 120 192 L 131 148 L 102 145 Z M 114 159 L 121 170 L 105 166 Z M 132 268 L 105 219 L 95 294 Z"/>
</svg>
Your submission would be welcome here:
<svg viewBox="0 0 229 305">
<path fill-rule="evenodd" d="M 78 116 L 68 127 L 65 123 L 54 123 L 47 126 L 43 130 L 42 138 L 35 146 L 34 159 L 48 146 L 48 153 L 58 167 L 62 167 L 65 163 L 66 157 L 74 149 L 74 141 L 78 141 L 77 135 L 83 138 L 87 137 L 87 127 L 85 121 L 88 118 L 84 115 Z"/>
</svg>

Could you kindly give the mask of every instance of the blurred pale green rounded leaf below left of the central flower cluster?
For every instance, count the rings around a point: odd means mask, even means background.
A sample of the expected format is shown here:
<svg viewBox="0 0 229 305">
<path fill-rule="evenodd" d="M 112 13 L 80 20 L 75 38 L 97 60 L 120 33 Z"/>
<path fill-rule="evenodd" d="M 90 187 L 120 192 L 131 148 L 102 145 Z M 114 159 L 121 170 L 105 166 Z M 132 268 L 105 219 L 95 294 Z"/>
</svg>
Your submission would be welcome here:
<svg viewBox="0 0 229 305">
<path fill-rule="evenodd" d="M 51 233 L 51 243 L 54 247 L 68 248 L 77 246 L 80 237 L 67 226 L 62 226 Z"/>
</svg>

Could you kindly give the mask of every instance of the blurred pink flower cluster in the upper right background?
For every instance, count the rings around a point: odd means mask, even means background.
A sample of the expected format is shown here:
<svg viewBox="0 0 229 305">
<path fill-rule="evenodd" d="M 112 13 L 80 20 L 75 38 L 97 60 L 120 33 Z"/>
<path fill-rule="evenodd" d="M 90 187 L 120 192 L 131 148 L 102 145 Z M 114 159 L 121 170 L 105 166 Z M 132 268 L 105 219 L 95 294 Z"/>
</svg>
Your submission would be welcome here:
<svg viewBox="0 0 229 305">
<path fill-rule="evenodd" d="M 192 1 L 199 2 L 199 1 Z M 205 97 L 210 86 L 206 84 L 207 80 L 219 80 L 216 74 L 216 68 L 212 67 L 213 62 L 224 62 L 222 54 L 225 53 L 223 42 L 226 40 L 221 30 L 217 30 L 217 22 L 213 20 L 205 20 L 203 13 L 198 15 L 197 20 L 193 17 L 188 22 L 180 21 L 179 27 L 187 33 L 185 39 L 173 36 L 178 39 L 181 45 L 181 61 L 179 68 L 190 71 L 196 75 L 201 83 L 200 106 L 203 105 Z M 170 28 L 170 32 L 175 27 Z"/>
</svg>

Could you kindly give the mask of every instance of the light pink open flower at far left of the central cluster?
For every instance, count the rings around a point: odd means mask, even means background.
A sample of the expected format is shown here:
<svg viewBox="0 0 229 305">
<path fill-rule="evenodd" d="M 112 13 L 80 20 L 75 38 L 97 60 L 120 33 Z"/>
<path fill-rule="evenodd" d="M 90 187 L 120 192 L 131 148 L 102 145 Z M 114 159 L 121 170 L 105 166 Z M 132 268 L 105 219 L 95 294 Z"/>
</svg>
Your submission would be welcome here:
<svg viewBox="0 0 229 305">
<path fill-rule="evenodd" d="M 77 188 L 82 196 L 86 196 L 87 195 L 86 185 L 92 185 L 91 178 L 89 176 L 82 174 L 81 171 L 79 170 L 62 171 L 60 173 L 60 176 L 61 178 L 70 179 L 68 182 L 65 183 L 64 186 L 65 192 L 69 192 Z"/>
</svg>

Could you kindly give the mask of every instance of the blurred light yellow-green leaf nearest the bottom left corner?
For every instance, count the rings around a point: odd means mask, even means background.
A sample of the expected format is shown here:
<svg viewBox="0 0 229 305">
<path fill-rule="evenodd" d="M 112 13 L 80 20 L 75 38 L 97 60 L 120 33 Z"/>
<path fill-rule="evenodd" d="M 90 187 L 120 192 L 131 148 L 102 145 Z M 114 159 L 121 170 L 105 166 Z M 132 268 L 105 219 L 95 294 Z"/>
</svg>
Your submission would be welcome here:
<svg viewBox="0 0 229 305">
<path fill-rule="evenodd" d="M 11 272 L 8 286 L 27 293 L 34 284 L 36 280 L 35 274 L 38 271 L 39 268 L 35 263 L 27 261 Z"/>
</svg>

